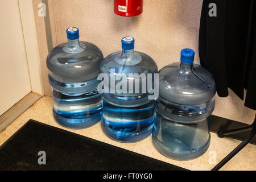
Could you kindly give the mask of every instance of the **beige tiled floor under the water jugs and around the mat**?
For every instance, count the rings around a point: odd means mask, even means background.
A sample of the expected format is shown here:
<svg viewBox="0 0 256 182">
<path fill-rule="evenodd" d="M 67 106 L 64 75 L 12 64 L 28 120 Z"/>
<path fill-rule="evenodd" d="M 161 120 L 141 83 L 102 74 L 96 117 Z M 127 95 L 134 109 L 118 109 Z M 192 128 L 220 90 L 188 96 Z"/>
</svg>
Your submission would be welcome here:
<svg viewBox="0 0 256 182">
<path fill-rule="evenodd" d="M 174 164 L 190 170 L 210 170 L 220 160 L 229 154 L 241 142 L 234 139 L 220 139 L 216 134 L 211 133 L 211 143 L 207 152 L 200 158 L 190 161 L 176 161 L 167 158 L 160 154 L 152 144 L 151 137 L 148 137 L 137 143 L 119 143 L 106 137 L 101 130 L 100 123 L 93 127 L 84 130 L 70 130 L 58 125 L 52 115 L 52 98 L 43 97 L 25 113 L 20 115 L 10 126 L 0 133 L 0 146 L 9 139 L 20 127 L 22 127 L 29 119 L 46 123 L 47 125 L 59 127 L 60 129 L 68 130 L 73 133 L 84 135 L 85 137 L 100 140 L 101 142 L 109 143 L 117 147 L 125 148 L 126 150 L 134 151 L 142 155 L 150 156 L 151 158 L 163 160 L 164 162 Z M 215 164 L 214 164 L 215 163 Z M 256 146 L 249 144 L 241 152 L 239 152 L 228 164 L 222 167 L 221 170 L 256 170 Z"/>
</svg>

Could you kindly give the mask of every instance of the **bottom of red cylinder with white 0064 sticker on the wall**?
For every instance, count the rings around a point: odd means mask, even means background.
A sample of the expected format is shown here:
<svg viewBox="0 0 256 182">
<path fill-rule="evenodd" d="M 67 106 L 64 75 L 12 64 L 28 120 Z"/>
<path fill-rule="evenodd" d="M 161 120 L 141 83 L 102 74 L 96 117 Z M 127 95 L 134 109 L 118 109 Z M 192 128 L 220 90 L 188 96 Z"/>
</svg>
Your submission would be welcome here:
<svg viewBox="0 0 256 182">
<path fill-rule="evenodd" d="M 114 13 L 120 16 L 142 14 L 143 0 L 114 0 Z"/>
</svg>

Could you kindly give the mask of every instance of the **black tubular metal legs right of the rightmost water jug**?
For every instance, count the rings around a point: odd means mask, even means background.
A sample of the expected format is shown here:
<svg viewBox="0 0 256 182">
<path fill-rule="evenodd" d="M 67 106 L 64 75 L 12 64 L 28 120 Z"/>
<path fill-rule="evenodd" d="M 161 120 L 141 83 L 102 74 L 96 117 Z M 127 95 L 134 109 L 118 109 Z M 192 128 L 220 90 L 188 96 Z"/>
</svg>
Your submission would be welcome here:
<svg viewBox="0 0 256 182">
<path fill-rule="evenodd" d="M 251 132 L 249 135 L 247 135 L 247 138 L 245 140 L 243 140 L 243 142 L 239 146 L 237 146 L 232 152 L 230 152 L 229 155 L 227 155 L 224 159 L 222 159 L 221 162 L 218 163 L 217 166 L 215 166 L 212 169 L 212 171 L 218 171 L 221 167 L 223 167 L 226 163 L 228 163 L 229 160 L 232 159 L 238 152 L 240 152 L 248 143 L 250 143 L 250 141 L 254 138 L 254 135 L 256 132 L 256 114 L 255 114 L 255 119 L 254 119 L 253 124 L 251 124 L 249 126 L 241 127 L 238 129 L 234 129 L 234 130 L 229 130 L 229 131 L 220 130 L 220 131 L 218 131 L 218 137 L 224 138 L 229 135 L 241 133 L 244 131 L 251 131 Z"/>
</svg>

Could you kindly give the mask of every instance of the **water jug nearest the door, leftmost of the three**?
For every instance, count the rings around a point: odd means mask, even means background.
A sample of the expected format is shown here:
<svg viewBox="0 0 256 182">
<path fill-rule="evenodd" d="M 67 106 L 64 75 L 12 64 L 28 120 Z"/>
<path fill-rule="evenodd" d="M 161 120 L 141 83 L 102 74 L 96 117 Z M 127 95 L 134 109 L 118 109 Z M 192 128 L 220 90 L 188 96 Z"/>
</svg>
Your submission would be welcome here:
<svg viewBox="0 0 256 182">
<path fill-rule="evenodd" d="M 82 129 L 101 119 L 97 76 L 104 57 L 98 47 L 79 42 L 78 28 L 68 28 L 67 38 L 67 43 L 53 48 L 47 57 L 53 115 L 60 125 Z"/>
</svg>

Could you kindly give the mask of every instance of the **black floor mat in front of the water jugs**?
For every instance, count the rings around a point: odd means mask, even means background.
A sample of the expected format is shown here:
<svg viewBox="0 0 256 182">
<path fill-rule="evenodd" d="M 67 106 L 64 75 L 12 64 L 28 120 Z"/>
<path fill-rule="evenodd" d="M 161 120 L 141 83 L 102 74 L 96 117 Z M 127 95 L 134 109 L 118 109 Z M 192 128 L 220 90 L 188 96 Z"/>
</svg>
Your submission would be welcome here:
<svg viewBox="0 0 256 182">
<path fill-rule="evenodd" d="M 46 165 L 38 164 L 39 151 L 46 152 Z M 185 169 L 30 120 L 0 147 L 0 170 Z"/>
</svg>

